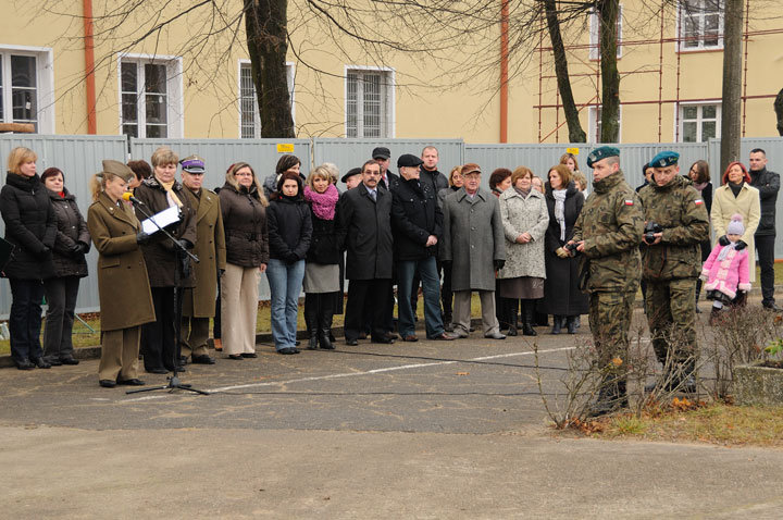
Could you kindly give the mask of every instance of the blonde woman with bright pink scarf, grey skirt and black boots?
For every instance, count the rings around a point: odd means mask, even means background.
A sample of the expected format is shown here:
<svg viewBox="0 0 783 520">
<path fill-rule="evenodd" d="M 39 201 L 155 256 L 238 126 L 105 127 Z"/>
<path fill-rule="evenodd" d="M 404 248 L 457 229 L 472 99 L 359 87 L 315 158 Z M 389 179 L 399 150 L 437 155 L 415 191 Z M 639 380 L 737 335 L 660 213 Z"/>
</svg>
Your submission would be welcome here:
<svg viewBox="0 0 783 520">
<path fill-rule="evenodd" d="M 330 341 L 335 293 L 340 289 L 339 262 L 343 247 L 337 225 L 339 193 L 333 182 L 330 164 L 318 166 L 307 179 L 304 201 L 310 205 L 312 237 L 304 263 L 304 321 L 310 344 L 308 348 L 331 350 Z"/>
</svg>

